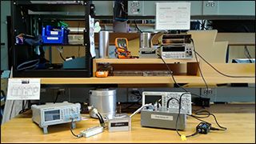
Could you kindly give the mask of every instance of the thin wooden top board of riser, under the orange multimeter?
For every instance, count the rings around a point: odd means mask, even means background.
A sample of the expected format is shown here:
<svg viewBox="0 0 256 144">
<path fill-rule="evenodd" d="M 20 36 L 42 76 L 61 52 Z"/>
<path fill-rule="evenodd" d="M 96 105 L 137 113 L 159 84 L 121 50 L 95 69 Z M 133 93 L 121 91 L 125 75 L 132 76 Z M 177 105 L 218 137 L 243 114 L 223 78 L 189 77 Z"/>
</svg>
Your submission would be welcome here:
<svg viewBox="0 0 256 144">
<path fill-rule="evenodd" d="M 118 58 L 95 58 L 96 63 L 112 63 L 112 64 L 163 64 L 160 58 L 130 58 L 130 59 L 118 59 Z M 165 62 L 170 63 L 187 63 L 196 62 L 193 59 L 165 59 Z"/>
</svg>

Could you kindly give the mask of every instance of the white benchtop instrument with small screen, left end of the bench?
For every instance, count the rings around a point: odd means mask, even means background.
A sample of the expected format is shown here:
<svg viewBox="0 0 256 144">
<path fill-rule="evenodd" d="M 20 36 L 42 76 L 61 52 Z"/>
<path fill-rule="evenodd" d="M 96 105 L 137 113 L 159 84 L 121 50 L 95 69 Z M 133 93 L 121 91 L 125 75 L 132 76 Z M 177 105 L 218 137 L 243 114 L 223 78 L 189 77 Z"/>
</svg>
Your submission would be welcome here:
<svg viewBox="0 0 256 144">
<path fill-rule="evenodd" d="M 72 129 L 75 127 L 74 122 L 81 121 L 80 103 L 50 103 L 46 105 L 32 105 L 32 120 L 42 127 L 43 133 L 47 134 L 47 127 L 61 123 L 72 122 Z"/>
</svg>

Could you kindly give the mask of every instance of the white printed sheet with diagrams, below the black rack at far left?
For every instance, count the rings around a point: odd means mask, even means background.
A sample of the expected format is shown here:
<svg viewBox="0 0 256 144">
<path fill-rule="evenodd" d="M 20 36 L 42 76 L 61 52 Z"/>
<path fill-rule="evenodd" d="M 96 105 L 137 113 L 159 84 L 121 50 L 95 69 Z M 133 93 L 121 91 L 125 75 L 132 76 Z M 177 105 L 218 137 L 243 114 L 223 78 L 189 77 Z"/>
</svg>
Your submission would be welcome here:
<svg viewBox="0 0 256 144">
<path fill-rule="evenodd" d="M 7 100 L 39 100 L 40 78 L 9 78 Z"/>
</svg>

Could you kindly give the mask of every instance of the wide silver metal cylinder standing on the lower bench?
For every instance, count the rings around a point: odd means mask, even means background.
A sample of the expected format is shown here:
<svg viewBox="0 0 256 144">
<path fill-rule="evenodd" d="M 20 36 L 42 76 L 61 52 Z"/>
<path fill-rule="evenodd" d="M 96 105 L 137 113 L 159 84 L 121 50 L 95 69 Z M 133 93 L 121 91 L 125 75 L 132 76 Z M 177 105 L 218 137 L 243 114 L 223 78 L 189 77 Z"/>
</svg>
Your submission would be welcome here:
<svg viewBox="0 0 256 144">
<path fill-rule="evenodd" d="M 90 106 L 96 108 L 103 118 L 113 118 L 116 110 L 116 90 L 97 89 L 90 90 Z M 90 117 L 98 118 L 90 113 Z"/>
</svg>

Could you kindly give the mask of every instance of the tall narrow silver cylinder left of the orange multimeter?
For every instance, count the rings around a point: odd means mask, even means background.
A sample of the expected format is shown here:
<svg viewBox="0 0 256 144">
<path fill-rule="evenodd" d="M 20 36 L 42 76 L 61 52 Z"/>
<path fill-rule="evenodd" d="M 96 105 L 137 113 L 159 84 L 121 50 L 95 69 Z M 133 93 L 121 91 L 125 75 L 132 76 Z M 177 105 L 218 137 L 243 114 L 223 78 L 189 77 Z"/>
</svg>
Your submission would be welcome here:
<svg viewBox="0 0 256 144">
<path fill-rule="evenodd" d="M 99 32 L 99 58 L 108 58 L 109 56 L 109 46 L 110 46 L 110 39 L 109 39 L 109 32 L 108 31 L 100 31 Z"/>
</svg>

